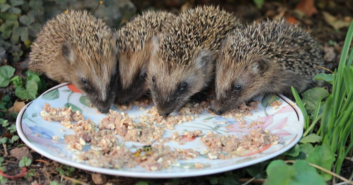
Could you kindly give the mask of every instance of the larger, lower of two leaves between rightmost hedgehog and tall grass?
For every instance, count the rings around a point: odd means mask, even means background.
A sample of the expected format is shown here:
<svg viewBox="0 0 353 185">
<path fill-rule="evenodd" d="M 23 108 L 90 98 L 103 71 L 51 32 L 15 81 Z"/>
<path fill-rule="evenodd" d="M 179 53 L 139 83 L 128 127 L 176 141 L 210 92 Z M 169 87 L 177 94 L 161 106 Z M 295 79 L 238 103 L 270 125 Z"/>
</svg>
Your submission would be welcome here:
<svg viewBox="0 0 353 185">
<path fill-rule="evenodd" d="M 308 113 L 315 110 L 318 100 L 328 97 L 329 92 L 322 87 L 311 88 L 301 94 L 303 103 Z"/>
</svg>

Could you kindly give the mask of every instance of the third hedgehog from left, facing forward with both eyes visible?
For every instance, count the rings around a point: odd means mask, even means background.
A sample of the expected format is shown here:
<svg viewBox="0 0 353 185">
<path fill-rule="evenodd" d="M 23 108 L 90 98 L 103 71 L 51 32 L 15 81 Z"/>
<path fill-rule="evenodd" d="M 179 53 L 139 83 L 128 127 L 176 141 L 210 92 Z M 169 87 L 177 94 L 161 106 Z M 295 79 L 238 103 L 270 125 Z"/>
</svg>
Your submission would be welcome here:
<svg viewBox="0 0 353 185">
<path fill-rule="evenodd" d="M 219 7 L 198 6 L 181 12 L 166 32 L 153 37 L 147 83 L 161 116 L 207 87 L 222 39 L 239 26 L 238 18 Z"/>
</svg>

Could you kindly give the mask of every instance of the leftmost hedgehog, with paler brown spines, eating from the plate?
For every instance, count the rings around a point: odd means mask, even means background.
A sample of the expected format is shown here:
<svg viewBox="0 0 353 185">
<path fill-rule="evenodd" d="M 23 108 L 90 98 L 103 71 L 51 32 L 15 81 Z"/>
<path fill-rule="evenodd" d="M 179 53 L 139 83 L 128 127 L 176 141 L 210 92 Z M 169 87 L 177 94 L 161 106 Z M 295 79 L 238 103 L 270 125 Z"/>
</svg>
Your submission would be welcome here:
<svg viewBox="0 0 353 185">
<path fill-rule="evenodd" d="M 116 49 L 109 27 L 86 11 L 65 11 L 48 20 L 29 54 L 29 69 L 69 82 L 100 112 L 115 100 Z"/>
</svg>

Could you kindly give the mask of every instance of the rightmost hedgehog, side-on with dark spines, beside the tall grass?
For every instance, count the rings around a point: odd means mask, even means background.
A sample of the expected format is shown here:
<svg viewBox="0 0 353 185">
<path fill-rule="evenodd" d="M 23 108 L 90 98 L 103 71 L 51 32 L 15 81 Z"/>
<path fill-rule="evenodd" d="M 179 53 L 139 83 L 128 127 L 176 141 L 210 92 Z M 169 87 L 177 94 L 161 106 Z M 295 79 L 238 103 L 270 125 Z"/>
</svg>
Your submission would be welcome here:
<svg viewBox="0 0 353 185">
<path fill-rule="evenodd" d="M 316 40 L 285 19 L 263 20 L 235 30 L 222 43 L 216 59 L 214 112 L 217 115 L 274 93 L 292 97 L 320 85 L 312 80 L 324 72 Z"/>
</svg>

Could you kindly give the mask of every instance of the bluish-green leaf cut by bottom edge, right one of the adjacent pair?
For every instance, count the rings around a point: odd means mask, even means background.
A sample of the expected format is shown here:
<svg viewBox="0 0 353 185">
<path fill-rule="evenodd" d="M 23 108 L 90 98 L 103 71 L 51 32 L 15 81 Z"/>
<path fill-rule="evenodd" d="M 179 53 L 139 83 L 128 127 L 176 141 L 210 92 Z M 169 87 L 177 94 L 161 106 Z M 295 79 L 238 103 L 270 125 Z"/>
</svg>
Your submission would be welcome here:
<svg viewBox="0 0 353 185">
<path fill-rule="evenodd" d="M 297 160 L 293 164 L 297 174 L 293 177 L 293 184 L 326 185 L 325 180 L 304 160 Z"/>
</svg>

